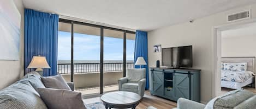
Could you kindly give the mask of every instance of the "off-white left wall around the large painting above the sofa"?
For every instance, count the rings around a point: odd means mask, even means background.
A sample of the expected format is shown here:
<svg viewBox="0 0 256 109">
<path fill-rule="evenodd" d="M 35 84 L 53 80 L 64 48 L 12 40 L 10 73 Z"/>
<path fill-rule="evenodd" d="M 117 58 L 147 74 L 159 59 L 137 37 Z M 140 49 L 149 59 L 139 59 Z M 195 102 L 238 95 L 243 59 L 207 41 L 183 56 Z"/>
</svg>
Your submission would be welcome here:
<svg viewBox="0 0 256 109">
<path fill-rule="evenodd" d="M 21 0 L 14 0 L 14 3 L 21 14 L 21 37 L 20 37 L 20 60 L 19 61 L 3 61 L 0 60 L 0 89 L 13 84 L 16 80 L 23 76 L 23 48 L 24 48 L 24 7 Z"/>
</svg>

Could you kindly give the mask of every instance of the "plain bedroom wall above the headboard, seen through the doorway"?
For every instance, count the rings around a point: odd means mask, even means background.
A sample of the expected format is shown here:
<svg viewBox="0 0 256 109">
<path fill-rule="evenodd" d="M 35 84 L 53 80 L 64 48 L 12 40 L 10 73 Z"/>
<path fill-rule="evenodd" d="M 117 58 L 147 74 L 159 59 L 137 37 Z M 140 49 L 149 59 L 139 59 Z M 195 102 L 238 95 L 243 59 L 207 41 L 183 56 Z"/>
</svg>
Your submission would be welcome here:
<svg viewBox="0 0 256 109">
<path fill-rule="evenodd" d="M 256 41 L 256 35 L 224 38 L 222 39 L 222 56 L 223 57 L 256 56 L 255 41 Z"/>
</svg>

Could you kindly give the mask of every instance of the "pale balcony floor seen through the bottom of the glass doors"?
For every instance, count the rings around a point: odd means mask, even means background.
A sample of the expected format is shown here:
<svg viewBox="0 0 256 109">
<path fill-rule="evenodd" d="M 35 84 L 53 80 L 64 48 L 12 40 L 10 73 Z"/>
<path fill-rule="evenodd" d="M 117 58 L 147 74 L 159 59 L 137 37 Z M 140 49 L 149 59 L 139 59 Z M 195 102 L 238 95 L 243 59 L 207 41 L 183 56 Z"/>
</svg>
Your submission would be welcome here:
<svg viewBox="0 0 256 109">
<path fill-rule="evenodd" d="M 104 86 L 104 92 L 110 92 L 110 91 L 117 91 L 118 85 L 110 85 L 110 86 Z M 99 87 L 92 87 L 92 88 L 78 88 L 75 89 L 76 92 L 81 92 L 82 95 L 90 95 L 99 93 Z"/>
</svg>

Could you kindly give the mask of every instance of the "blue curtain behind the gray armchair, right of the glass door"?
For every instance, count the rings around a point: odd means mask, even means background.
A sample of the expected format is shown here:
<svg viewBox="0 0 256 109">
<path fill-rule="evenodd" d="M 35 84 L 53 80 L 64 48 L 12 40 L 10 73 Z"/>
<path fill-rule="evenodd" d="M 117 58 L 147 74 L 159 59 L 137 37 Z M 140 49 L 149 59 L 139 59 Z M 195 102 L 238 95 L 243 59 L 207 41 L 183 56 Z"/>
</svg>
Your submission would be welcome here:
<svg viewBox="0 0 256 109">
<path fill-rule="evenodd" d="M 147 60 L 147 32 L 136 30 L 134 62 L 136 62 L 138 57 L 144 57 L 144 60 L 147 63 L 147 65 L 142 66 L 142 68 L 146 68 L 145 89 L 148 89 L 149 81 L 148 81 L 148 60 Z M 140 68 L 140 66 L 135 66 L 135 68 Z"/>
</svg>

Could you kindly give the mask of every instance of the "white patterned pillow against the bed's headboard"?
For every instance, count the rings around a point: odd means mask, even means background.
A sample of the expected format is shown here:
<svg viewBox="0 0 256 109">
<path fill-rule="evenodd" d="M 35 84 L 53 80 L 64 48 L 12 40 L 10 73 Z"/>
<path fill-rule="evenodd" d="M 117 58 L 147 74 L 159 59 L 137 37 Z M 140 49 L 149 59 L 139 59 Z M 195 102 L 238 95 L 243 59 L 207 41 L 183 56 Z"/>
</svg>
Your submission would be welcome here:
<svg viewBox="0 0 256 109">
<path fill-rule="evenodd" d="M 241 62 L 241 63 L 224 63 L 224 70 L 230 70 L 230 71 L 246 71 L 247 70 L 247 63 Z"/>
</svg>

